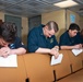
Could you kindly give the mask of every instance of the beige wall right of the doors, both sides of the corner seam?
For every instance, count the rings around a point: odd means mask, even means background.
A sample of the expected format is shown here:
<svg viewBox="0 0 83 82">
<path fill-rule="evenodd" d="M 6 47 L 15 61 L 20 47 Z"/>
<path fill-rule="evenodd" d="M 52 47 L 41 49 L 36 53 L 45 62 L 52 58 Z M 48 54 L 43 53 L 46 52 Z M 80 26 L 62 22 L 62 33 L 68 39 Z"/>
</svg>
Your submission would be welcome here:
<svg viewBox="0 0 83 82">
<path fill-rule="evenodd" d="M 69 28 L 71 23 L 70 14 L 75 15 L 75 23 L 83 26 L 83 17 L 80 16 L 78 13 L 72 12 L 70 10 L 58 10 L 49 13 L 42 14 L 42 23 L 46 24 L 48 21 L 56 21 L 59 25 L 59 32 L 56 34 L 57 39 L 59 40 L 60 35 Z"/>
</svg>

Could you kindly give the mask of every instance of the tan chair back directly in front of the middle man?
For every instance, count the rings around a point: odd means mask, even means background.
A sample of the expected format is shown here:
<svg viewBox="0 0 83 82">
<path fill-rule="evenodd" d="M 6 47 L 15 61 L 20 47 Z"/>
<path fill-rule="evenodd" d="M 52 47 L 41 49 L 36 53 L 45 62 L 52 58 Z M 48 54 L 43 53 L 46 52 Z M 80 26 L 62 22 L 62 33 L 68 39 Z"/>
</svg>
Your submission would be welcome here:
<svg viewBox="0 0 83 82">
<path fill-rule="evenodd" d="M 26 54 L 23 56 L 29 82 L 52 82 L 54 71 L 50 67 L 50 56 L 43 54 Z"/>
</svg>

